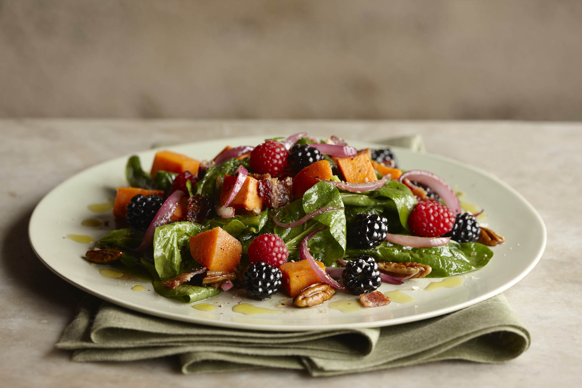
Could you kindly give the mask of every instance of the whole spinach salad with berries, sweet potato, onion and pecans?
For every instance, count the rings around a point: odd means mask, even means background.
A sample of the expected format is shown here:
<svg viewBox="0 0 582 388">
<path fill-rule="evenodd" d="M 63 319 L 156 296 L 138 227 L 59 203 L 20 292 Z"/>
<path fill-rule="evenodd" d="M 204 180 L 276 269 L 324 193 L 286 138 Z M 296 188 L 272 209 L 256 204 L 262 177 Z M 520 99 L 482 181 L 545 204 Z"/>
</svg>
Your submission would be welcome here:
<svg viewBox="0 0 582 388">
<path fill-rule="evenodd" d="M 383 283 L 485 266 L 503 237 L 462 213 L 434 172 L 404 171 L 390 149 L 357 150 L 307 133 L 226 146 L 213 160 L 159 151 L 151 172 L 127 161 L 119 228 L 86 253 L 141 266 L 164 297 L 197 302 L 243 288 L 312 307 L 336 292 L 388 304 Z"/>
</svg>

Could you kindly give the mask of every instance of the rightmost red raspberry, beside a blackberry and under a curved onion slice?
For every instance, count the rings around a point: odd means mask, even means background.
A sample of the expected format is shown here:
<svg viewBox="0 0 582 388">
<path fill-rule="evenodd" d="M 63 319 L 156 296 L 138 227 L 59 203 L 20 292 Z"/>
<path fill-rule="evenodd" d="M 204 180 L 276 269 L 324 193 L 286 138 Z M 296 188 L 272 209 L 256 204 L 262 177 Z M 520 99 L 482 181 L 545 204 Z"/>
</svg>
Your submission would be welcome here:
<svg viewBox="0 0 582 388">
<path fill-rule="evenodd" d="M 420 237 L 438 237 L 455 225 L 455 213 L 435 201 L 420 201 L 408 218 L 410 230 Z"/>
</svg>

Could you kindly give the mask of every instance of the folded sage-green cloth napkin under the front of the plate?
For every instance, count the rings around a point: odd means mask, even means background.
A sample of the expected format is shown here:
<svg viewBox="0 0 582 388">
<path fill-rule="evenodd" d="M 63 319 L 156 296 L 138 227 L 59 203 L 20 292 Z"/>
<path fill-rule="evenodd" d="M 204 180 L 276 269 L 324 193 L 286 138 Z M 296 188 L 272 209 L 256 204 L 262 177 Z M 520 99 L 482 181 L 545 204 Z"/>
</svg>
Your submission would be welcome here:
<svg viewBox="0 0 582 388">
<path fill-rule="evenodd" d="M 157 318 L 86 297 L 56 347 L 73 361 L 132 361 L 180 355 L 182 372 L 286 368 L 343 375 L 443 359 L 503 362 L 530 334 L 502 294 L 418 322 L 377 329 L 276 332 L 225 329 Z"/>
</svg>

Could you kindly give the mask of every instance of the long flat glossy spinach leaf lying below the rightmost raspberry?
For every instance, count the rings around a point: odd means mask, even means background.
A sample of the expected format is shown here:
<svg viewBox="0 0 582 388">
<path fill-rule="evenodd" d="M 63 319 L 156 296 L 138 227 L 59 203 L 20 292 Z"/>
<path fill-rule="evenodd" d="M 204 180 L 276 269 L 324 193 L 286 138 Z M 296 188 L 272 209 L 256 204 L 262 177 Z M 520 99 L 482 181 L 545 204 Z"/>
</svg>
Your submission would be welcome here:
<svg viewBox="0 0 582 388">
<path fill-rule="evenodd" d="M 427 264 L 432 267 L 427 277 L 446 277 L 479 269 L 493 256 L 491 249 L 483 244 L 456 241 L 435 248 L 412 248 L 385 241 L 376 249 L 348 249 L 346 255 L 356 258 L 362 253 L 377 261 Z"/>
</svg>

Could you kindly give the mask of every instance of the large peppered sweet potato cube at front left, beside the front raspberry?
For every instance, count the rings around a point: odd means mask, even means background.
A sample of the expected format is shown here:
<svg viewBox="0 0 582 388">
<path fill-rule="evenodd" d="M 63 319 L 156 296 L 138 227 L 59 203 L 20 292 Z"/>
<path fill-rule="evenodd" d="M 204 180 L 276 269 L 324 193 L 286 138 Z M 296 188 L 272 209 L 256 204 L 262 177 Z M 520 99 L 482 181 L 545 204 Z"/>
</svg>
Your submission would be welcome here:
<svg viewBox="0 0 582 388">
<path fill-rule="evenodd" d="M 216 227 L 190 237 L 190 253 L 211 271 L 232 272 L 239 265 L 243 247 L 228 232 Z"/>
</svg>

